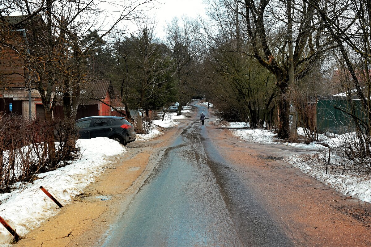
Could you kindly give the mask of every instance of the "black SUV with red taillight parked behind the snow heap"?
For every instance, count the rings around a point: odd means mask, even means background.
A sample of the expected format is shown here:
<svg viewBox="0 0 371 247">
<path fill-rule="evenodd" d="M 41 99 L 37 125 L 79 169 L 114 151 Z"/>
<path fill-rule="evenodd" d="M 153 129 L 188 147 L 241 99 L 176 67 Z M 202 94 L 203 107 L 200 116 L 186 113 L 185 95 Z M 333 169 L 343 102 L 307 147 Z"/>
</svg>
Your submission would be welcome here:
<svg viewBox="0 0 371 247">
<path fill-rule="evenodd" d="M 123 117 L 94 116 L 76 121 L 79 139 L 108 137 L 126 146 L 135 141 L 134 126 Z"/>
</svg>

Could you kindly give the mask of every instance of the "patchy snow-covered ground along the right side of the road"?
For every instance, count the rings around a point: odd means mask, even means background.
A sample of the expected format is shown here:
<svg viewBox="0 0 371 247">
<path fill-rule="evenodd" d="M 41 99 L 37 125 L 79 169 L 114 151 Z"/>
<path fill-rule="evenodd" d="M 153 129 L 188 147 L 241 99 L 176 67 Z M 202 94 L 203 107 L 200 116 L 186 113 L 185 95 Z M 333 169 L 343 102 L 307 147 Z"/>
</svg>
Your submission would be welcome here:
<svg viewBox="0 0 371 247">
<path fill-rule="evenodd" d="M 217 124 L 217 121 L 215 122 Z M 225 128 L 244 128 L 247 123 L 224 123 L 219 124 Z M 341 148 L 344 141 L 349 140 L 355 133 L 346 133 L 343 135 L 334 135 L 332 133 L 325 133 L 319 135 L 319 140 L 313 141 L 309 144 L 304 143 L 282 143 L 280 140 L 274 138 L 275 134 L 263 129 L 238 129 L 231 130 L 233 135 L 244 140 L 265 145 L 282 144 L 288 146 L 296 146 L 298 148 L 311 150 L 312 154 L 294 155 L 285 159 L 294 167 L 298 167 L 303 173 L 312 176 L 324 184 L 334 188 L 336 191 L 355 198 L 361 201 L 371 203 L 371 178 L 369 175 L 354 174 L 353 171 L 346 170 L 342 173 L 342 163 L 350 162 L 344 157 L 340 157 L 336 152 L 336 148 Z M 303 129 L 298 128 L 298 134 L 303 135 Z M 331 136 L 331 137 L 330 137 Z M 322 144 L 327 144 L 332 148 L 330 165 L 328 165 L 327 174 L 325 169 L 325 162 L 328 157 L 328 148 Z M 337 166 L 337 169 L 335 168 Z"/>
</svg>

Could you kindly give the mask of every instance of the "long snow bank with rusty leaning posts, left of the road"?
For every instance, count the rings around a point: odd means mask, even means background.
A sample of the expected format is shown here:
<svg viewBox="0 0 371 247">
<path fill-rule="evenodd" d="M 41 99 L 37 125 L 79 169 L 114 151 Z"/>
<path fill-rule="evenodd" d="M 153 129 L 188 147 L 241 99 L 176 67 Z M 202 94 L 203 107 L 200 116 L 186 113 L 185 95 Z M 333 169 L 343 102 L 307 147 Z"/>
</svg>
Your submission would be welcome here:
<svg viewBox="0 0 371 247">
<path fill-rule="evenodd" d="M 80 160 L 55 171 L 37 174 L 40 179 L 27 184 L 24 189 L 0 194 L 1 217 L 16 229 L 20 236 L 58 213 L 58 206 L 40 190 L 40 186 L 56 197 L 62 205 L 69 204 L 113 162 L 110 157 L 126 152 L 124 146 L 106 137 L 81 139 L 77 141 L 77 146 L 81 147 L 83 152 Z M 1 226 L 0 243 L 7 243 L 12 238 Z"/>
</svg>

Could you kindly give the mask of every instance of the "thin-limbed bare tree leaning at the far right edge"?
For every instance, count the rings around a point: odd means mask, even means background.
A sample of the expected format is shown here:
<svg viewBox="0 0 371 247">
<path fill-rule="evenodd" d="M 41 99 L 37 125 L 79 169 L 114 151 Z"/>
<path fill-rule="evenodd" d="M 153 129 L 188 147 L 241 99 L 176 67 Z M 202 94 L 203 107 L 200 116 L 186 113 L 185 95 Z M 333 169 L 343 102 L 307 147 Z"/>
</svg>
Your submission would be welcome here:
<svg viewBox="0 0 371 247">
<path fill-rule="evenodd" d="M 350 106 L 335 108 L 354 121 L 359 144 L 355 148 L 359 151 L 357 155 L 368 156 L 371 153 L 371 3 L 338 0 L 313 3 L 313 6 L 328 25 L 327 33 L 335 39 L 335 52 L 341 58 L 335 74 L 344 79 L 338 86 Z"/>
</svg>

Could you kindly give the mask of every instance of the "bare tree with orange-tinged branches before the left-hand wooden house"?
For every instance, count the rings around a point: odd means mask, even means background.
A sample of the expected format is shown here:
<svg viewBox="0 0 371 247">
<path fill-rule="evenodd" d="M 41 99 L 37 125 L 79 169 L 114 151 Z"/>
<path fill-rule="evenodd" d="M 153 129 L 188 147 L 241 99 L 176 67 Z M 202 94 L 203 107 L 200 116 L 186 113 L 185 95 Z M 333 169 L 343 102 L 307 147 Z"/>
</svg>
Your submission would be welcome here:
<svg viewBox="0 0 371 247">
<path fill-rule="evenodd" d="M 143 11 L 151 0 L 125 1 L 117 17 L 111 24 L 99 31 L 99 37 L 90 44 L 81 44 L 85 34 L 98 23 L 100 14 L 106 13 L 95 0 L 40 0 L 17 1 L 9 11 L 13 1 L 3 1 L 0 5 L 0 18 L 7 23 L 5 14 L 12 11 L 22 13 L 13 27 L 32 21 L 27 30 L 28 50 L 17 49 L 26 61 L 24 68 L 32 79 L 32 88 L 41 97 L 46 121 L 53 120 L 53 109 L 63 99 L 65 119 L 73 121 L 76 116 L 83 82 L 88 82 L 86 57 L 92 47 L 124 20 L 141 20 Z M 112 2 L 112 4 L 115 4 Z M 10 27 L 8 25 L 8 27 Z M 8 39 L 3 39 L 3 45 Z M 24 41 L 12 47 L 24 47 Z M 49 157 L 55 157 L 54 131 L 49 133 Z"/>
</svg>

